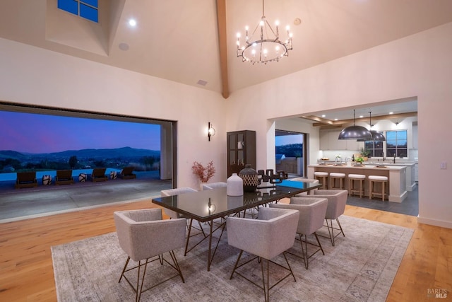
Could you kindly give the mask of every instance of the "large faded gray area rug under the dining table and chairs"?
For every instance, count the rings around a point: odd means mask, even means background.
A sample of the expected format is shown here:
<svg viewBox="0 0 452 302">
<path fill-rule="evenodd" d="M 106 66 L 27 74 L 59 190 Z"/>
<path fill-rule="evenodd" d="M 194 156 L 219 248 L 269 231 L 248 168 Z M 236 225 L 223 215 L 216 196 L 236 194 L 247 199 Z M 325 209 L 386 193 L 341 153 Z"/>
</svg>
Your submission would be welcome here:
<svg viewBox="0 0 452 302">
<path fill-rule="evenodd" d="M 287 278 L 270 290 L 273 301 L 385 301 L 413 230 L 386 223 L 341 216 L 345 237 L 335 246 L 320 238 L 325 255 L 311 257 L 309 269 L 298 257 L 287 255 L 297 281 Z M 318 233 L 325 232 L 321 230 Z M 314 239 L 315 240 L 315 239 Z M 229 279 L 239 250 L 227 245 L 223 234 L 217 254 L 206 269 L 208 240 L 186 257 L 176 255 L 184 274 L 180 278 L 145 291 L 141 301 L 263 301 L 263 291 L 242 277 Z M 296 241 L 292 252 L 299 252 Z M 126 281 L 118 283 L 126 254 L 116 233 L 78 240 L 52 247 L 58 301 L 133 301 L 135 295 Z M 281 262 L 283 256 L 276 257 Z M 283 274 L 271 266 L 272 276 Z M 244 267 L 251 278 L 261 276 L 260 265 Z M 146 272 L 148 284 L 171 272 L 168 265 L 152 262 Z M 131 278 L 136 275 L 131 274 Z M 146 286 L 146 284 L 145 284 Z"/>
</svg>

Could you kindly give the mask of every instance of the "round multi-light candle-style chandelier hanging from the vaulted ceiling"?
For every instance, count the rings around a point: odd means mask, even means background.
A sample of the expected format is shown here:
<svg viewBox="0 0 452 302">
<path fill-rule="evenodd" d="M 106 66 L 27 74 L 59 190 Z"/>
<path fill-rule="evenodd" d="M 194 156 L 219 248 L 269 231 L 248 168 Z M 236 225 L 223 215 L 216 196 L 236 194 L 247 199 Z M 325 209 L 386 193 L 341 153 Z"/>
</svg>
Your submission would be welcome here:
<svg viewBox="0 0 452 302">
<path fill-rule="evenodd" d="M 292 50 L 292 33 L 289 25 L 286 27 L 287 40 L 280 40 L 278 21 L 275 22 L 276 30 L 268 23 L 262 0 L 262 17 L 256 25 L 254 31 L 249 35 L 248 26 L 245 27 L 245 44 L 240 43 L 240 33 L 237 33 L 237 57 L 242 57 L 242 62 L 251 62 L 251 64 L 279 61 L 281 57 L 288 56 L 289 50 Z M 254 40 L 255 39 L 255 40 Z"/>
</svg>

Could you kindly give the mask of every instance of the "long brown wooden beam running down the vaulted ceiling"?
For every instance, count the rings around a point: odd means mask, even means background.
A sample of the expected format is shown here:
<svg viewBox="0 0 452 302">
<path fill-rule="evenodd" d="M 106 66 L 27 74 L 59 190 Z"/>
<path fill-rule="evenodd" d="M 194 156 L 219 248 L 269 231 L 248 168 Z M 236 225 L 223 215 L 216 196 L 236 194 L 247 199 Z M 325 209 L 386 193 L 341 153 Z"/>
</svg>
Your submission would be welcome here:
<svg viewBox="0 0 452 302">
<path fill-rule="evenodd" d="M 218 44 L 220 46 L 220 71 L 223 98 L 229 97 L 227 74 L 226 0 L 217 0 Z"/>
</svg>

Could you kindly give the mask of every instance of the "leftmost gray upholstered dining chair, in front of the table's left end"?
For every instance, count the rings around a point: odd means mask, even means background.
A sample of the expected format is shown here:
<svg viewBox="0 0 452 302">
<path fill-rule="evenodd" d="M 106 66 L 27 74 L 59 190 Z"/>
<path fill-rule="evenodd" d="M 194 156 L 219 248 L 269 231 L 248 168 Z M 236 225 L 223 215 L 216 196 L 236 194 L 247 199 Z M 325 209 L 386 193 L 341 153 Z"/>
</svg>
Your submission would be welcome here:
<svg viewBox="0 0 452 302">
<path fill-rule="evenodd" d="M 174 250 L 184 247 L 185 219 L 162 220 L 162 209 L 141 209 L 115 211 L 114 224 L 117 229 L 119 245 L 128 255 L 121 277 L 119 277 L 119 282 L 121 282 L 122 277 L 126 279 L 136 293 L 135 301 L 140 301 L 143 291 L 152 289 L 174 277 L 181 277 L 182 282 L 185 283 L 174 254 Z M 165 252 L 169 252 L 172 263 L 168 262 L 163 256 Z M 130 260 L 138 262 L 138 264 L 127 268 Z M 146 267 L 148 263 L 155 260 L 159 260 L 161 265 L 166 262 L 177 271 L 177 274 L 163 281 L 158 281 L 157 284 L 143 290 Z M 136 287 L 133 286 L 125 274 L 133 269 L 138 271 Z M 143 269 L 143 273 L 141 273 L 141 269 Z"/>
</svg>

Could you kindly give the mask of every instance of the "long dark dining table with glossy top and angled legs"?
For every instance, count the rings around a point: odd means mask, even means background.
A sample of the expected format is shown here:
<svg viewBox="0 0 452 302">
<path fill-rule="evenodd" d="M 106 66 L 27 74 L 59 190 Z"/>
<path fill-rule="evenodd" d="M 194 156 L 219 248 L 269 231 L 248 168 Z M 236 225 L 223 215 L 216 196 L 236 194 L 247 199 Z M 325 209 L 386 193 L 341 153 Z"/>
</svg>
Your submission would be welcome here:
<svg viewBox="0 0 452 302">
<path fill-rule="evenodd" d="M 218 248 L 218 243 L 220 243 L 222 232 L 224 231 L 224 222 L 214 227 L 215 219 L 224 219 L 231 214 L 240 214 L 240 212 L 246 211 L 246 209 L 252 209 L 270 202 L 278 202 L 280 199 L 293 197 L 296 194 L 319 187 L 321 187 L 319 183 L 283 180 L 283 182 L 274 187 L 258 188 L 256 192 L 244 192 L 242 196 L 228 196 L 226 194 L 226 187 L 218 187 L 212 190 L 157 197 L 153 198 L 152 202 L 166 209 L 176 211 L 187 219 L 197 220 L 201 223 L 208 222 L 210 232 L 201 241 L 206 238 L 209 239 L 207 270 L 210 271 L 210 265 L 215 256 L 215 251 Z M 221 230 L 221 235 L 215 245 L 215 250 L 212 252 L 212 237 L 213 233 L 217 230 Z M 186 240 L 186 252 L 189 245 L 189 237 Z M 201 241 L 196 243 L 196 245 L 201 243 Z"/>
</svg>

